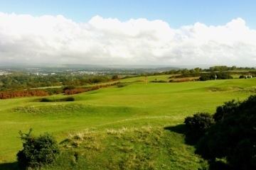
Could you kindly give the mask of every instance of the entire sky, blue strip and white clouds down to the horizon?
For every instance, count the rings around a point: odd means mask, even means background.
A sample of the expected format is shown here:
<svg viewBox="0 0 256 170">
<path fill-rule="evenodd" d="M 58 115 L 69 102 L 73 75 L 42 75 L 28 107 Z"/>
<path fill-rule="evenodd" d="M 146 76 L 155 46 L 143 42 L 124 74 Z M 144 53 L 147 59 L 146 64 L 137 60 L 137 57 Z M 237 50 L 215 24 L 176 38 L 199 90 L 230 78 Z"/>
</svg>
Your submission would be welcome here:
<svg viewBox="0 0 256 170">
<path fill-rule="evenodd" d="M 0 0 L 0 64 L 256 67 L 255 0 Z"/>
</svg>

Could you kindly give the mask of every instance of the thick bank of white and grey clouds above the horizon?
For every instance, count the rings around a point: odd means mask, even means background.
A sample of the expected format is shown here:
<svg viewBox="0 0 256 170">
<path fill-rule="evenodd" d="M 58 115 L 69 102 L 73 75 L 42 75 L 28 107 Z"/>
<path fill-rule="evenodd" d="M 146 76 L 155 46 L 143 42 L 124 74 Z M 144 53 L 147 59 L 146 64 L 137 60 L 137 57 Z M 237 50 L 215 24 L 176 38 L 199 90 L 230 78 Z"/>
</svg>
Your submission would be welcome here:
<svg viewBox="0 0 256 170">
<path fill-rule="evenodd" d="M 0 13 L 0 63 L 213 64 L 256 67 L 256 30 L 242 18 L 225 26 L 171 28 L 161 20 Z"/>
</svg>

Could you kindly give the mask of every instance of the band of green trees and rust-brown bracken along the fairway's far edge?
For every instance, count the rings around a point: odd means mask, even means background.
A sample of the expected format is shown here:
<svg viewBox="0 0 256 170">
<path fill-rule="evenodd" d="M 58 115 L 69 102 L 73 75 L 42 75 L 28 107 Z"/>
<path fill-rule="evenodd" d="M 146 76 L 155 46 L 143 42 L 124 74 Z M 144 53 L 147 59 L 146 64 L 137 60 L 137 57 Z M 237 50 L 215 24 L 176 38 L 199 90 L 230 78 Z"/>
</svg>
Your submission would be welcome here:
<svg viewBox="0 0 256 170">
<path fill-rule="evenodd" d="M 226 69 L 235 69 L 236 67 L 225 67 L 225 66 L 215 66 L 210 67 L 210 70 L 220 70 L 220 72 L 206 72 L 206 69 L 201 69 L 199 67 L 195 69 L 171 69 L 166 72 L 157 72 L 150 74 L 141 74 L 140 76 L 150 76 L 159 74 L 173 74 L 170 78 L 184 78 L 184 77 L 200 77 L 200 81 L 206 81 L 211 79 L 233 79 L 230 74 L 238 74 L 238 72 L 223 72 Z M 236 68 L 238 69 L 238 68 Z M 251 68 L 252 69 L 252 68 Z M 255 76 L 256 72 L 250 70 L 250 72 L 240 73 L 240 74 L 250 74 Z M 124 77 L 129 78 L 129 76 Z M 85 75 L 72 75 L 72 74 L 54 74 L 47 76 L 38 76 L 34 74 L 26 74 L 22 72 L 14 72 L 12 74 L 0 76 L 0 99 L 4 98 L 16 98 L 25 96 L 48 96 L 53 94 L 78 94 L 85 91 L 95 90 L 100 88 L 95 85 L 90 88 L 80 88 L 80 86 L 87 86 L 92 84 L 99 84 L 102 82 L 118 80 L 118 76 L 93 76 L 86 77 Z M 194 79 L 195 80 L 195 79 Z M 189 79 L 182 80 L 171 80 L 170 82 L 183 82 L 190 81 Z M 158 82 L 158 81 L 157 81 Z M 40 87 L 47 86 L 60 86 L 56 88 L 47 89 L 37 89 Z M 67 86 L 73 86 L 76 88 L 65 89 Z M 31 90 L 34 89 L 34 90 Z"/>
</svg>

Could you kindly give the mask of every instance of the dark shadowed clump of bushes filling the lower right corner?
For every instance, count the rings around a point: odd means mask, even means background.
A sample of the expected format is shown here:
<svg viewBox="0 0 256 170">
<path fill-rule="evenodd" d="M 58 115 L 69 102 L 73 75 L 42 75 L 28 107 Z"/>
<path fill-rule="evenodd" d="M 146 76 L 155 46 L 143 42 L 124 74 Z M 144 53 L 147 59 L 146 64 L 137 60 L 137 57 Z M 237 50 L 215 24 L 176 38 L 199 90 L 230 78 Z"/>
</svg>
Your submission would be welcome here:
<svg viewBox="0 0 256 170">
<path fill-rule="evenodd" d="M 256 96 L 225 102 L 215 114 L 197 113 L 184 123 L 187 140 L 204 159 L 225 159 L 225 169 L 256 169 Z"/>
</svg>

